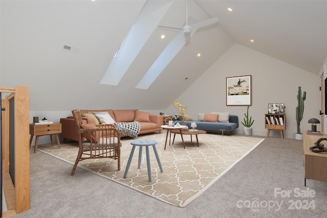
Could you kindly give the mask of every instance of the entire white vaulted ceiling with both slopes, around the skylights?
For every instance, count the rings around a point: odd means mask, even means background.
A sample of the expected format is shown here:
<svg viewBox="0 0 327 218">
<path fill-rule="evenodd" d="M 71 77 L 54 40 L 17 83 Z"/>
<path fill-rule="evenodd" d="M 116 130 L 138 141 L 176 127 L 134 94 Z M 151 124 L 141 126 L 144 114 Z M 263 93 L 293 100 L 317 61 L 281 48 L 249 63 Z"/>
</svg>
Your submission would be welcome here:
<svg viewBox="0 0 327 218">
<path fill-rule="evenodd" d="M 181 33 L 162 28 L 147 32 L 134 26 L 139 38 L 134 38 L 136 41 L 126 51 L 137 49 L 136 55 L 119 83 L 107 85 L 100 82 L 146 6 L 166 7 L 152 26 L 183 27 L 184 0 L 0 4 L 0 85 L 29 86 L 31 110 L 87 108 L 85 99 L 97 108 L 167 108 L 234 43 L 316 75 L 327 57 L 327 1 L 190 0 L 191 25 L 214 17 L 218 18 L 217 24 L 198 29 L 191 43 L 181 46 L 148 89 L 135 87 Z M 146 40 L 142 38 L 145 33 Z M 164 39 L 160 38 L 162 34 Z M 78 52 L 67 52 L 63 45 Z M 40 90 L 46 90 L 46 96 Z M 73 94 L 74 101 L 63 98 Z M 101 101 L 95 100 L 96 95 Z"/>
</svg>

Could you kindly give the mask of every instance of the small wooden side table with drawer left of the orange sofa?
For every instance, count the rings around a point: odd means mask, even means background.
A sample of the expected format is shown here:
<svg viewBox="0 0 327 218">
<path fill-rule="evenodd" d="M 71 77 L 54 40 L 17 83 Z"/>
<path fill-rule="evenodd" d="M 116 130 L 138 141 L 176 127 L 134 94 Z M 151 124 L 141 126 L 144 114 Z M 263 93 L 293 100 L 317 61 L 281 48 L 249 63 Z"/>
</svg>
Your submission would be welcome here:
<svg viewBox="0 0 327 218">
<path fill-rule="evenodd" d="M 33 140 L 34 135 L 36 136 L 34 153 L 36 153 L 37 144 L 38 144 L 40 136 L 50 135 L 51 144 L 53 146 L 52 136 L 55 135 L 56 139 L 57 139 L 58 147 L 60 149 L 61 147 L 60 147 L 60 141 L 59 141 L 59 137 L 58 137 L 59 133 L 61 133 L 61 124 L 37 124 L 37 125 L 30 124 L 30 134 L 31 134 L 30 148 L 31 148 L 31 144 L 32 144 L 32 140 Z"/>
</svg>

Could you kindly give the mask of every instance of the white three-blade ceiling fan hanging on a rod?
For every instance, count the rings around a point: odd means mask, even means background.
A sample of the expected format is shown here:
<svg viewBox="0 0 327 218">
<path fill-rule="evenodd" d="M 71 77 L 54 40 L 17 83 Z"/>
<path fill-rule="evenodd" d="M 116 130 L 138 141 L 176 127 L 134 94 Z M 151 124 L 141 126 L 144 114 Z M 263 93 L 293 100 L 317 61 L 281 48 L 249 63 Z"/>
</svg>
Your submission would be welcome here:
<svg viewBox="0 0 327 218">
<path fill-rule="evenodd" d="M 195 23 L 192 26 L 189 26 L 188 25 L 188 0 L 185 0 L 185 2 L 186 2 L 186 22 L 185 22 L 186 25 L 184 27 L 182 27 L 182 28 L 169 27 L 169 26 L 158 26 L 158 27 L 159 28 L 171 29 L 171 30 L 182 30 L 183 34 L 185 36 L 185 44 L 187 45 L 187 44 L 190 44 L 190 42 L 191 42 L 191 32 L 192 32 L 192 30 L 197 30 L 198 28 L 212 25 L 212 24 L 214 24 L 214 23 L 216 23 L 218 21 L 218 18 L 215 17 L 215 18 L 212 18 L 212 19 L 207 19 L 207 20 Z"/>
</svg>

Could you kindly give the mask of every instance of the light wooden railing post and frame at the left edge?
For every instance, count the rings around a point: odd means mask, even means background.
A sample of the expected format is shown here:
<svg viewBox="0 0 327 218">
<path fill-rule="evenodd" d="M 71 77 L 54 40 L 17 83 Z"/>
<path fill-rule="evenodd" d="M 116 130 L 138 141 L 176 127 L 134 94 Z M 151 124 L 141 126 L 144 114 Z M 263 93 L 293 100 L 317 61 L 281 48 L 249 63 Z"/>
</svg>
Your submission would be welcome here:
<svg viewBox="0 0 327 218">
<path fill-rule="evenodd" d="M 10 93 L 5 100 L 1 100 L 2 140 L 0 142 L 3 172 L 1 182 L 2 184 L 5 182 L 6 200 L 11 199 L 11 202 L 15 204 L 9 206 L 8 210 L 14 209 L 18 214 L 30 209 L 29 88 L 26 86 L 0 87 L 0 93 Z M 10 158 L 14 161 L 9 161 Z M 14 171 L 11 172 L 11 169 Z M 10 179 L 14 185 L 14 191 L 12 186 L 8 185 Z M 11 196 L 8 197 L 8 195 Z"/>
</svg>

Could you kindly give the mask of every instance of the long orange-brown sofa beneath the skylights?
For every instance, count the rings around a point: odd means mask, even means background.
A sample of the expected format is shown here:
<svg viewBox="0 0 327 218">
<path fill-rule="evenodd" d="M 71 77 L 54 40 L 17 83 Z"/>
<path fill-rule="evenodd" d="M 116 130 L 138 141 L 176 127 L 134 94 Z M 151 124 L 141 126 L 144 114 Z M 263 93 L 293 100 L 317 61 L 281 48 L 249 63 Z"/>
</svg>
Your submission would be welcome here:
<svg viewBox="0 0 327 218">
<path fill-rule="evenodd" d="M 162 116 L 159 114 L 150 114 L 148 112 L 142 112 L 135 110 L 80 110 L 84 123 L 87 124 L 99 124 L 100 121 L 94 116 L 93 112 L 108 112 L 113 118 L 114 122 L 133 122 L 137 120 L 141 124 L 141 130 L 138 134 L 145 134 L 151 132 L 161 133 L 162 128 Z M 99 123 L 97 123 L 99 122 Z M 66 118 L 60 118 L 61 133 L 60 136 L 64 141 L 71 139 L 78 141 L 78 134 L 76 130 L 75 120 L 73 116 L 67 116 Z M 121 134 L 121 137 L 125 135 Z"/>
</svg>

